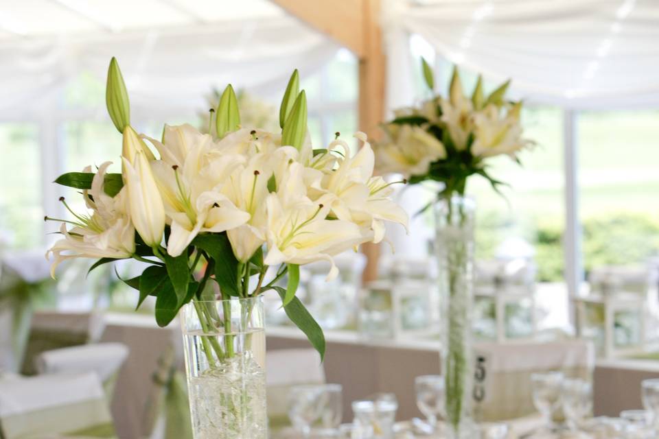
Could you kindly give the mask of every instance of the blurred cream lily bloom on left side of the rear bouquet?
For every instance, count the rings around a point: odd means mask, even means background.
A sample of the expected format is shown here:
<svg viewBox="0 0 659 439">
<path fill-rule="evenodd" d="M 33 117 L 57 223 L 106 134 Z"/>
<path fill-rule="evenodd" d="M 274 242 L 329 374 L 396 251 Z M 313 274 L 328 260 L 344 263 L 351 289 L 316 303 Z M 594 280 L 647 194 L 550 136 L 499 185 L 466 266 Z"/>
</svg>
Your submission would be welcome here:
<svg viewBox="0 0 659 439">
<path fill-rule="evenodd" d="M 424 175 L 430 163 L 446 157 L 444 145 L 420 126 L 389 124 L 386 132 L 389 139 L 375 148 L 379 174 Z"/>
</svg>

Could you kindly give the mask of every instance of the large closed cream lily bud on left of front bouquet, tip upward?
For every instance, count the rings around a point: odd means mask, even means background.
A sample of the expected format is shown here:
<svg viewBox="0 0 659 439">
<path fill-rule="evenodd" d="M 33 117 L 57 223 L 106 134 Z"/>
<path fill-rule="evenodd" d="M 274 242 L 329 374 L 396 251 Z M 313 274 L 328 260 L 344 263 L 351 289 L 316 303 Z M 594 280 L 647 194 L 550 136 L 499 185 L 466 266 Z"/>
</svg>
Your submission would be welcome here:
<svg viewBox="0 0 659 439">
<path fill-rule="evenodd" d="M 165 207 L 151 166 L 141 151 L 135 154 L 135 163 L 126 157 L 122 161 L 132 224 L 146 244 L 157 246 L 165 230 Z"/>
</svg>

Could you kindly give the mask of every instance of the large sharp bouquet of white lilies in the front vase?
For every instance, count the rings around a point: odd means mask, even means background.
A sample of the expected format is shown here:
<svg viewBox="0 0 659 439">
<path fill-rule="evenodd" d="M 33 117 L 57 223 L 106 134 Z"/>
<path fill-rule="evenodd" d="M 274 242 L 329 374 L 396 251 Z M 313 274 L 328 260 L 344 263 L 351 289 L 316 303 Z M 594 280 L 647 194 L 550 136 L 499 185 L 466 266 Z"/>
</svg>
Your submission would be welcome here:
<svg viewBox="0 0 659 439">
<path fill-rule="evenodd" d="M 106 162 L 95 173 L 87 167 L 56 180 L 82 189 L 89 211 L 71 211 L 73 219 L 62 221 L 63 238 L 49 250 L 53 270 L 77 257 L 99 259 L 92 268 L 125 258 L 149 263 L 125 282 L 139 290 L 138 307 L 157 296 L 161 326 L 185 303 L 214 300 L 218 291 L 221 298 L 249 298 L 275 289 L 322 355 L 322 332 L 295 298 L 299 265 L 329 261 L 331 278 L 334 255 L 382 241 L 384 221 L 407 224 L 406 213 L 389 200 L 391 187 L 373 177 L 365 134 L 355 134 L 362 145 L 354 156 L 338 136 L 314 150 L 297 71 L 281 102 L 281 132 L 241 126 L 229 85 L 211 110 L 216 137 L 187 124 L 165 125 L 161 140 L 138 134 L 114 58 L 106 100 L 123 134 L 122 174 L 108 174 Z M 279 269 L 266 282 L 273 265 Z M 278 287 L 285 274 L 288 286 Z"/>
</svg>

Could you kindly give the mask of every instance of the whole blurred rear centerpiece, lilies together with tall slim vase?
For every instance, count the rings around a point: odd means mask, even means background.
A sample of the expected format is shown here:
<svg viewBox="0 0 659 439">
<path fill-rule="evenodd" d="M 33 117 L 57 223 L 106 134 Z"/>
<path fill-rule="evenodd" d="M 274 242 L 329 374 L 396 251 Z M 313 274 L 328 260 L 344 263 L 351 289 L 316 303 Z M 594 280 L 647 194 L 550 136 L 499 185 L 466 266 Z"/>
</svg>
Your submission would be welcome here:
<svg viewBox="0 0 659 439">
<path fill-rule="evenodd" d="M 426 84 L 435 88 L 432 69 L 422 60 Z M 411 184 L 438 182 L 435 209 L 441 289 L 441 372 L 445 377 L 444 414 L 448 437 L 473 438 L 472 265 L 474 202 L 465 198 L 467 178 L 479 175 L 498 191 L 487 165 L 493 156 L 517 154 L 532 144 L 522 138 L 521 102 L 505 99 L 509 82 L 489 95 L 479 76 L 465 96 L 454 69 L 448 97 L 433 95 L 419 106 L 401 108 L 384 123 L 384 140 L 375 147 L 382 174 L 403 174 Z M 434 204 L 434 206 L 433 206 Z"/>
</svg>

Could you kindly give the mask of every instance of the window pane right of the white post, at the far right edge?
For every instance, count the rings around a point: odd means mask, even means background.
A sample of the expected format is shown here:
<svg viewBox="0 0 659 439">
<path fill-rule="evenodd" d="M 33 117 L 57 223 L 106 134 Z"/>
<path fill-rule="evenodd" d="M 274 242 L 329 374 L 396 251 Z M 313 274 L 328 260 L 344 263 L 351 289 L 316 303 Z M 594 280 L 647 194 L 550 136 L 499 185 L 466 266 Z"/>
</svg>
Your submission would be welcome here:
<svg viewBox="0 0 659 439">
<path fill-rule="evenodd" d="M 579 209 L 586 273 L 659 250 L 659 112 L 581 112 Z"/>
</svg>

